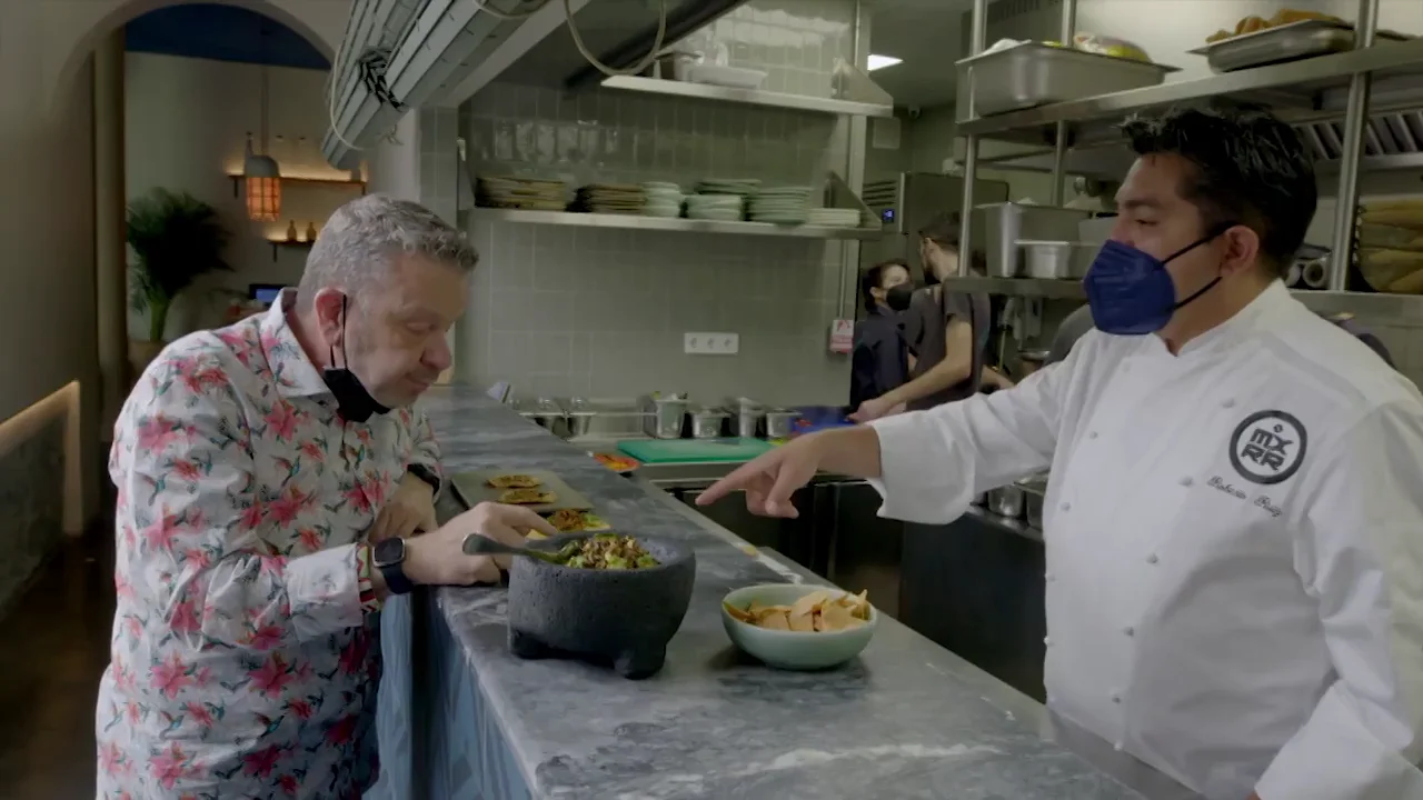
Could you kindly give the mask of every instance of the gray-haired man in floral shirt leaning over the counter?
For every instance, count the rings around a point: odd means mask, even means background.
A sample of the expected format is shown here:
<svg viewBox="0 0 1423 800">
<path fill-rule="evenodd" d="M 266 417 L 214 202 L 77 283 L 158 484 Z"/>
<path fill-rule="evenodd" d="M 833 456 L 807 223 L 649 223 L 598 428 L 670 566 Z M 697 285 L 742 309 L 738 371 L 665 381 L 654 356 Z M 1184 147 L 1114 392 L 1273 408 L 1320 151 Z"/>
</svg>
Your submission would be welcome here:
<svg viewBox="0 0 1423 800">
<path fill-rule="evenodd" d="M 297 290 L 144 372 L 110 457 L 100 797 L 359 799 L 377 770 L 386 594 L 497 579 L 468 535 L 554 532 L 494 504 L 434 520 L 440 456 L 411 404 L 450 366 L 475 258 L 418 205 L 357 199 Z"/>
</svg>

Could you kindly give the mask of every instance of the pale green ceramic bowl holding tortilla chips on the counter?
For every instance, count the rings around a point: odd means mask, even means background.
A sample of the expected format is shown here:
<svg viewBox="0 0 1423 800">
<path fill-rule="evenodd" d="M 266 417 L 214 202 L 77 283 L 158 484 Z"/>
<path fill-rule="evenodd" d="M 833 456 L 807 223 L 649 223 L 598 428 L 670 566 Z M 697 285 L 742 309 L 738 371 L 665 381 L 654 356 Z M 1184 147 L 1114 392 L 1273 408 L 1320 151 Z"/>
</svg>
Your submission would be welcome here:
<svg viewBox="0 0 1423 800">
<path fill-rule="evenodd" d="M 747 653 L 761 659 L 778 669 L 828 669 L 838 666 L 859 655 L 875 635 L 879 625 L 879 611 L 869 606 L 869 621 L 848 631 L 804 632 L 804 631 L 767 631 L 756 625 L 741 622 L 726 611 L 726 605 L 733 608 L 747 608 L 753 601 L 761 605 L 791 605 L 797 599 L 818 591 L 828 591 L 832 595 L 847 594 L 834 586 L 817 586 L 810 584 L 760 584 L 736 589 L 723 598 L 721 625 L 731 643 Z"/>
</svg>

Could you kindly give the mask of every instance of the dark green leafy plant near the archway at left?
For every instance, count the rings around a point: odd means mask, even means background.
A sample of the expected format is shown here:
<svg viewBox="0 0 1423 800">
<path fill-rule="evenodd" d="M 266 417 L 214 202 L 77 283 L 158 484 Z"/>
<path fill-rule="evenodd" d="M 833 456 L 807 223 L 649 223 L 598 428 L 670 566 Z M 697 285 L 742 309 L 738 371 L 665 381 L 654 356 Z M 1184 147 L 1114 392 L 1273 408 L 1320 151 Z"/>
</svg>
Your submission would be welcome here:
<svg viewBox="0 0 1423 800">
<path fill-rule="evenodd" d="M 232 269 L 222 259 L 228 231 L 218 209 L 186 192 L 152 189 L 128 204 L 129 302 L 148 312 L 148 337 L 159 342 L 174 298 L 208 272 Z"/>
</svg>

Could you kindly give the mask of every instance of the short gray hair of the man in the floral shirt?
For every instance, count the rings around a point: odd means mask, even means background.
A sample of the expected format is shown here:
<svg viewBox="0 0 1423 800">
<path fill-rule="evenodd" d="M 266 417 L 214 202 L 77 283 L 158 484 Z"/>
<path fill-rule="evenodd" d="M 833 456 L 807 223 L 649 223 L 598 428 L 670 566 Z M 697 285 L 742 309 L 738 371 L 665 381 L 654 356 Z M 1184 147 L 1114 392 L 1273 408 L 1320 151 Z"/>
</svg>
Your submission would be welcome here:
<svg viewBox="0 0 1423 800">
<path fill-rule="evenodd" d="M 425 206 L 390 195 L 366 195 L 332 214 L 306 256 L 297 298 L 310 307 L 316 293 L 337 288 L 360 295 L 380 282 L 401 255 L 423 255 L 471 272 L 480 253 L 453 225 Z"/>
</svg>

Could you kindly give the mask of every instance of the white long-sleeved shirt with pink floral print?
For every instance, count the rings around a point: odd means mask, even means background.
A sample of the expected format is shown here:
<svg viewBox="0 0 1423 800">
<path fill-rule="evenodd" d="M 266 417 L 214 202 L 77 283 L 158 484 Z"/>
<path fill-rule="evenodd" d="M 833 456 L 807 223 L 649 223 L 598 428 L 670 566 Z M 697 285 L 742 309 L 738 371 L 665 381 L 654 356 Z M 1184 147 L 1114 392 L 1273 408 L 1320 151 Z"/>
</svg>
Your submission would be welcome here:
<svg viewBox="0 0 1423 800">
<path fill-rule="evenodd" d="M 174 342 L 120 414 L 101 799 L 359 799 L 376 777 L 357 548 L 438 451 L 424 414 L 337 417 L 290 302 Z"/>
</svg>

